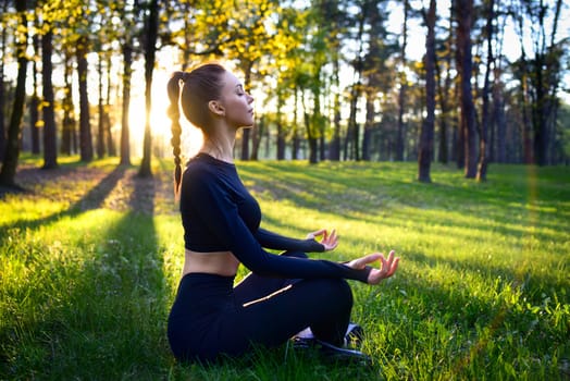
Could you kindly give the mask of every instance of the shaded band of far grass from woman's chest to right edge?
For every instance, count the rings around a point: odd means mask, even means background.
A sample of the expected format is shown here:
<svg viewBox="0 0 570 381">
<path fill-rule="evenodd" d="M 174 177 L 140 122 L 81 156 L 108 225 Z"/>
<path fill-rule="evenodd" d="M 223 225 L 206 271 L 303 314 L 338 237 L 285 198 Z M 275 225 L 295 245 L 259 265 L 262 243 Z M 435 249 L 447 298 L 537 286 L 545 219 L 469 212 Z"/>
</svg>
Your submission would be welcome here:
<svg viewBox="0 0 570 381">
<path fill-rule="evenodd" d="M 397 217 L 404 207 L 418 214 L 428 210 L 442 217 L 428 222 L 454 224 L 454 219 L 446 218 L 446 211 L 451 216 L 463 213 L 481 221 L 478 229 L 500 230 L 518 236 L 521 231 L 512 224 L 535 224 L 554 232 L 566 229 L 565 219 L 570 216 L 563 204 L 570 200 L 569 194 L 560 192 L 559 184 L 545 181 L 533 185 L 526 179 L 518 179 L 515 184 L 503 181 L 490 185 L 444 179 L 439 183 L 421 184 L 401 181 L 389 173 L 388 179 L 374 176 L 375 172 L 365 167 L 361 171 L 361 175 L 338 171 L 331 176 L 330 168 L 292 168 L 277 163 L 240 170 L 248 186 L 261 197 L 347 219 L 370 219 L 373 223 L 377 223 L 374 219 L 383 213 Z M 490 224 L 492 221 L 508 221 L 509 226 Z M 553 232 L 542 230 L 537 234 L 550 239 Z"/>
</svg>

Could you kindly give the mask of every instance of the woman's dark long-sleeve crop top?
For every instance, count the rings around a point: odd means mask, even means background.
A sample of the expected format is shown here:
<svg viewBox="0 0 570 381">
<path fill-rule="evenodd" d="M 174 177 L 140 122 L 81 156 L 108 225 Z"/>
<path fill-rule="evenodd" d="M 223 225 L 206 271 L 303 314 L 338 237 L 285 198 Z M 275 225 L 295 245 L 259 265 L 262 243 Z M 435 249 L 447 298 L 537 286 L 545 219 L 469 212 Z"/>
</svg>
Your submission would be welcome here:
<svg viewBox="0 0 570 381">
<path fill-rule="evenodd" d="M 314 239 L 294 239 L 260 229 L 261 209 L 236 167 L 199 153 L 183 175 L 181 214 L 187 249 L 232 251 L 249 270 L 283 278 L 345 278 L 367 282 L 370 268 L 355 270 L 329 260 L 278 256 L 263 249 L 323 251 Z"/>
</svg>

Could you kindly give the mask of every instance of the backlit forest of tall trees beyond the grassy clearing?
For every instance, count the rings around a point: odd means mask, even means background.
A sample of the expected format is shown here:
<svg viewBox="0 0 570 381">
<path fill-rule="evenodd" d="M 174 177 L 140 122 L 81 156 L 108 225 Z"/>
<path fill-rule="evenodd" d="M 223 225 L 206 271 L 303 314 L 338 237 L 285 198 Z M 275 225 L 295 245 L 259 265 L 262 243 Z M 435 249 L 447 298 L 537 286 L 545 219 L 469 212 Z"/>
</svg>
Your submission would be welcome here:
<svg viewBox="0 0 570 381">
<path fill-rule="evenodd" d="M 433 162 L 479 181 L 494 162 L 570 162 L 561 0 L 0 7 L 4 186 L 15 186 L 23 150 L 42 156 L 45 169 L 70 155 L 131 164 L 140 152 L 139 173 L 151 174 L 151 158 L 170 149 L 169 134 L 157 133 L 168 120 L 151 118 L 165 112 L 158 73 L 208 60 L 256 97 L 256 125 L 236 144 L 241 160 L 417 161 L 422 182 Z"/>
</svg>

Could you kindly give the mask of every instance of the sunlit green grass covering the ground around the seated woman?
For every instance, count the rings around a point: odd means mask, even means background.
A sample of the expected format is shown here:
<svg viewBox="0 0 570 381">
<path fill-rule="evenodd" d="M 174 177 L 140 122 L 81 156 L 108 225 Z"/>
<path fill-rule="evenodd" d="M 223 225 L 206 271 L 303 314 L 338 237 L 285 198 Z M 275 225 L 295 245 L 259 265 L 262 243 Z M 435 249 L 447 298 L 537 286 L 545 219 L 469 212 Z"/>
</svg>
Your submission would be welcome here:
<svg viewBox="0 0 570 381">
<path fill-rule="evenodd" d="M 314 257 L 401 256 L 380 286 L 351 282 L 374 361 L 362 369 L 287 346 L 176 364 L 165 322 L 183 241 L 170 162 L 156 162 L 153 181 L 116 160 L 39 164 L 26 157 L 17 177 L 33 192 L 0 201 L 2 380 L 570 378 L 569 168 L 492 165 L 478 184 L 433 165 L 434 183 L 420 184 L 414 163 L 238 163 L 267 228 L 337 229 L 339 247 Z"/>
</svg>

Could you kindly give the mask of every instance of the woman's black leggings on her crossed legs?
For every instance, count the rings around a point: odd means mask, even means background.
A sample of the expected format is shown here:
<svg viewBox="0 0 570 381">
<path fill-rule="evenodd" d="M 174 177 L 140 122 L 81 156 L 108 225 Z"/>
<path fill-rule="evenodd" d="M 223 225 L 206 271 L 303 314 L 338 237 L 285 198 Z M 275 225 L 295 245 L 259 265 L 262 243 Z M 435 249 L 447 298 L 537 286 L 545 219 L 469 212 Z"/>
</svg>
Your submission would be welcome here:
<svg viewBox="0 0 570 381">
<path fill-rule="evenodd" d="M 283 255 L 307 257 L 303 253 Z M 186 274 L 169 317 L 169 342 L 178 360 L 237 356 L 251 344 L 276 346 L 310 327 L 314 336 L 342 345 L 352 308 L 343 279 L 285 280 L 249 274 Z"/>
</svg>

